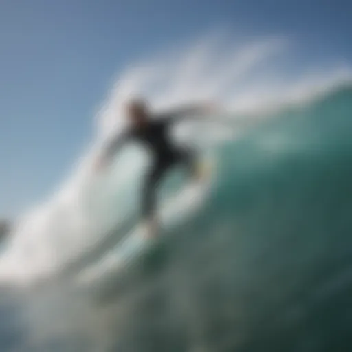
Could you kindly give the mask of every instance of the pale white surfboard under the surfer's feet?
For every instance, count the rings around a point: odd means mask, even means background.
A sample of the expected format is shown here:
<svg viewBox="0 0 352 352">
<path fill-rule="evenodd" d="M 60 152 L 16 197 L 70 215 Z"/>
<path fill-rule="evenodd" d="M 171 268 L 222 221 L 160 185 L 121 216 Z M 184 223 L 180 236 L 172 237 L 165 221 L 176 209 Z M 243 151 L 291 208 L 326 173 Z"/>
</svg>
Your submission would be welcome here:
<svg viewBox="0 0 352 352">
<path fill-rule="evenodd" d="M 201 163 L 201 168 L 202 175 L 197 181 L 190 181 L 177 195 L 160 204 L 159 221 L 162 229 L 172 230 L 177 223 L 195 214 L 206 201 L 214 180 L 214 165 L 208 160 Z M 161 236 L 164 236 L 162 232 L 162 230 L 159 231 L 151 238 L 147 236 L 146 227 L 143 224 L 137 225 L 102 260 L 83 270 L 78 275 L 78 283 L 89 284 L 104 275 L 117 273 L 123 265 L 128 265 L 156 245 Z"/>
</svg>

